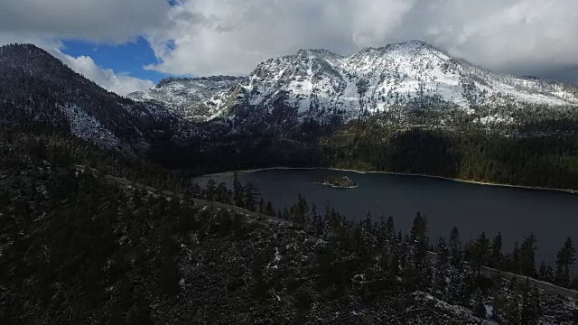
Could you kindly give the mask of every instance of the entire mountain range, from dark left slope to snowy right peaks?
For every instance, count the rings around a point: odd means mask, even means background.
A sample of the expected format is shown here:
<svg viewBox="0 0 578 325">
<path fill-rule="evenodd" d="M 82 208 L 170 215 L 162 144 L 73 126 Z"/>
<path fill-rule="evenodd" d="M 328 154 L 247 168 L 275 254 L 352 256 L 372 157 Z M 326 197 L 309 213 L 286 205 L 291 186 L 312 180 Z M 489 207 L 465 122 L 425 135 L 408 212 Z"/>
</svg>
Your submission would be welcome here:
<svg viewBox="0 0 578 325">
<path fill-rule="evenodd" d="M 0 75 L 0 126 L 49 124 L 105 147 L 146 148 L 238 125 L 283 134 L 303 120 L 332 125 L 392 108 L 458 107 L 486 124 L 512 121 L 508 112 L 527 103 L 566 112 L 578 106 L 575 85 L 493 73 L 417 41 L 349 57 L 301 50 L 262 62 L 246 78 L 163 79 L 131 94 L 140 102 L 98 87 L 33 45 L 0 47 Z M 187 121 L 217 117 L 226 123 Z"/>
</svg>

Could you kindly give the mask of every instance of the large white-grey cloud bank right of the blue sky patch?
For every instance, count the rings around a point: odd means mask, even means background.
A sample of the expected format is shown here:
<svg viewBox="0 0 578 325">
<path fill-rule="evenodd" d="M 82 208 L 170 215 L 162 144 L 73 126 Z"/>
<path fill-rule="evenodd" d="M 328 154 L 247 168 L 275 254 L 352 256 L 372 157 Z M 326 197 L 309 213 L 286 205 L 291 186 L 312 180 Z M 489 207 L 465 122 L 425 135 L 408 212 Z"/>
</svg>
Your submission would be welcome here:
<svg viewBox="0 0 578 325">
<path fill-rule="evenodd" d="M 500 72 L 576 79 L 576 0 L 180 0 L 148 32 L 171 74 L 247 74 L 301 48 L 423 40 Z"/>
</svg>

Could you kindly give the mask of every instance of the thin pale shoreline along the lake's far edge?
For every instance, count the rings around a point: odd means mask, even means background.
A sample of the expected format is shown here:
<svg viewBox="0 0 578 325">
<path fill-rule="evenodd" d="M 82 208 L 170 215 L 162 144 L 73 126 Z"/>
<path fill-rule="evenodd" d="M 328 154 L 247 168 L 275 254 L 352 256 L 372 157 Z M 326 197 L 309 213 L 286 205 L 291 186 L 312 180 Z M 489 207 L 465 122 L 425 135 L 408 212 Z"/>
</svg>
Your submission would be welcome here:
<svg viewBox="0 0 578 325">
<path fill-rule="evenodd" d="M 341 168 L 328 168 L 328 167 L 267 167 L 267 168 L 257 168 L 257 169 L 245 170 L 245 171 L 214 172 L 214 173 L 210 173 L 210 174 L 206 174 L 206 175 L 201 175 L 201 176 L 198 176 L 196 178 L 210 177 L 210 176 L 217 176 L 217 175 L 232 175 L 235 172 L 237 172 L 238 174 L 246 174 L 246 173 L 252 173 L 252 172 L 283 171 L 283 170 L 287 170 L 287 171 L 291 171 L 291 170 L 302 170 L 302 171 L 327 170 L 327 171 L 335 171 L 335 172 L 356 172 L 359 174 L 374 173 L 374 174 L 386 174 L 386 175 L 397 175 L 397 176 L 413 176 L 413 177 L 424 177 L 424 178 L 437 179 L 437 180 L 443 180 L 443 181 L 457 181 L 457 182 L 466 183 L 466 184 L 485 185 L 485 186 L 500 187 L 500 188 L 507 188 L 507 189 L 509 188 L 509 189 L 518 189 L 518 190 L 545 190 L 545 191 L 562 192 L 562 193 L 566 193 L 566 194 L 578 194 L 578 190 L 564 190 L 564 189 L 556 189 L 556 188 L 545 188 L 545 187 L 539 187 L 539 186 L 500 184 L 500 183 L 492 183 L 492 182 L 486 182 L 486 181 L 469 181 L 469 180 L 452 179 L 449 177 L 427 175 L 427 174 L 421 174 L 421 173 L 356 171 L 356 170 L 341 169 Z M 350 188 L 348 188 L 348 189 L 350 189 Z"/>
</svg>

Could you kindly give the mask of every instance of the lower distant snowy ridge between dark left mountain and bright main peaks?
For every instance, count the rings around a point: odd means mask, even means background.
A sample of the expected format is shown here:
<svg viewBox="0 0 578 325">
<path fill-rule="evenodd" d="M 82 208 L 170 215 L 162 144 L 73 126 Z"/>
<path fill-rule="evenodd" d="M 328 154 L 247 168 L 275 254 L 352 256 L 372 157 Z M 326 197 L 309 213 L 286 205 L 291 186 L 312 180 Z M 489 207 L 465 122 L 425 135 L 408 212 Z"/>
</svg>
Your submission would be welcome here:
<svg viewBox="0 0 578 325">
<path fill-rule="evenodd" d="M 219 115 L 219 98 L 245 80 L 242 77 L 167 78 L 154 88 L 128 94 L 136 101 L 161 104 L 173 113 L 190 120 L 206 120 Z M 215 95 L 217 95 L 216 98 Z M 219 105 L 218 105 L 219 104 Z"/>
</svg>

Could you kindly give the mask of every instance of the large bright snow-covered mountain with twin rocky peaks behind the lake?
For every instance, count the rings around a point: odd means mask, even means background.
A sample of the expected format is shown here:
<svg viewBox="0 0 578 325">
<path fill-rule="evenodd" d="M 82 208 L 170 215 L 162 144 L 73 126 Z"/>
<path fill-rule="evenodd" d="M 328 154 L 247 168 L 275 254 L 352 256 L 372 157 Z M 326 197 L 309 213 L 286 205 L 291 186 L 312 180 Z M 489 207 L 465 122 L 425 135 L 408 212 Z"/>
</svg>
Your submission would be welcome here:
<svg viewBox="0 0 578 325">
<path fill-rule="evenodd" d="M 218 100 L 206 101 L 214 115 L 235 115 L 242 107 L 271 112 L 294 107 L 299 119 L 419 109 L 451 104 L 475 107 L 578 105 L 578 88 L 562 82 L 518 78 L 450 57 L 425 42 L 367 48 L 343 57 L 325 50 L 301 50 L 260 63 L 246 80 Z"/>
</svg>

